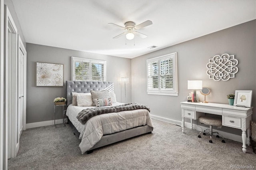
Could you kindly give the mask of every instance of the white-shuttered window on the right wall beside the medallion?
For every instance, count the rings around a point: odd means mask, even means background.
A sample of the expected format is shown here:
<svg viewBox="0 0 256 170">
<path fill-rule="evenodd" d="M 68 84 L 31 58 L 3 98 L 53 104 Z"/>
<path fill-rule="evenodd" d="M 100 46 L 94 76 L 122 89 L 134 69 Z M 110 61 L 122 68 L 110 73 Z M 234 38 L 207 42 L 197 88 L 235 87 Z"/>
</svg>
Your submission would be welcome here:
<svg viewBox="0 0 256 170">
<path fill-rule="evenodd" d="M 148 59 L 147 74 L 149 95 L 178 96 L 176 52 Z"/>
</svg>

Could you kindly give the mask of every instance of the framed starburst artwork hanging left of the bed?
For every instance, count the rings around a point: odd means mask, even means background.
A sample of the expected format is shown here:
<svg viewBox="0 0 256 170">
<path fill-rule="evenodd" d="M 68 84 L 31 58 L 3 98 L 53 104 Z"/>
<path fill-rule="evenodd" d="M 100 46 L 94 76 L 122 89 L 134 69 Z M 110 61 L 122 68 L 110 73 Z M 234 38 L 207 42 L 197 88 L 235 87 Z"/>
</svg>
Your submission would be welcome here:
<svg viewBox="0 0 256 170">
<path fill-rule="evenodd" d="M 36 87 L 64 87 L 63 64 L 36 62 Z"/>
</svg>

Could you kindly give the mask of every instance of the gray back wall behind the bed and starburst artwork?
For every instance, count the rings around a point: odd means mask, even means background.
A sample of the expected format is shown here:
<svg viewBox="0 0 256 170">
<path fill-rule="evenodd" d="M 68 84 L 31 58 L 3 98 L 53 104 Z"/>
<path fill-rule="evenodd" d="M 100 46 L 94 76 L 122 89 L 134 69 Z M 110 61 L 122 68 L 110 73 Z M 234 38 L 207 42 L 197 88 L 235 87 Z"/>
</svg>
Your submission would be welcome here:
<svg viewBox="0 0 256 170">
<path fill-rule="evenodd" d="M 56 96 L 66 97 L 66 81 L 71 80 L 71 56 L 106 60 L 107 81 L 114 82 L 114 92 L 119 102 L 124 102 L 124 84 L 120 77 L 131 77 L 131 59 L 75 51 L 27 43 L 27 118 L 26 123 L 54 120 Z M 36 62 L 64 64 L 64 87 L 36 87 Z M 131 101 L 131 83 L 126 86 L 126 100 Z M 56 111 L 62 118 L 62 108 Z"/>
</svg>

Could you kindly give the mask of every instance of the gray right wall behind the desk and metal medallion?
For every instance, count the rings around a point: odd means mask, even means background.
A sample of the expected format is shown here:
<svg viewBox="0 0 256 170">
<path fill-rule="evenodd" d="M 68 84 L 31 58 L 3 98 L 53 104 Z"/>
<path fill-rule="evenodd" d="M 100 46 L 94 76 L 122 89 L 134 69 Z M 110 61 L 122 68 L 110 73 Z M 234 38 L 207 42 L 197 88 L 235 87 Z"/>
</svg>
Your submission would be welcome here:
<svg viewBox="0 0 256 170">
<path fill-rule="evenodd" d="M 211 90 L 210 95 L 206 96 L 208 102 L 228 104 L 227 94 L 235 93 L 235 90 L 252 90 L 252 106 L 256 106 L 255 41 L 256 22 L 253 20 L 133 58 L 132 101 L 149 105 L 152 115 L 181 121 L 180 102 L 186 101 L 190 92 L 187 89 L 187 80 L 203 80 L 203 87 Z M 177 52 L 178 59 L 178 97 L 147 95 L 146 60 L 172 52 Z M 209 79 L 206 64 L 215 55 L 224 53 L 235 55 L 238 59 L 238 73 L 228 81 Z M 199 91 L 198 93 L 199 100 L 203 101 L 204 97 Z M 253 110 L 256 112 L 256 109 Z M 256 113 L 252 115 L 252 119 L 256 120 Z M 232 132 L 233 130 L 227 129 Z M 241 130 L 238 133 L 241 134 Z"/>
</svg>

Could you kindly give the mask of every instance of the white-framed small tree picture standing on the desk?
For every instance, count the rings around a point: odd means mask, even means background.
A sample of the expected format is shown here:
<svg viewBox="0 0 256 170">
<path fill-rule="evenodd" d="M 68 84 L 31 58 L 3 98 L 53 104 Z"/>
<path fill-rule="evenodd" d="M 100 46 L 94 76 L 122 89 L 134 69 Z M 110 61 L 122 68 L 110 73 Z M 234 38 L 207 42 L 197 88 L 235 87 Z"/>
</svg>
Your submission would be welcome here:
<svg viewBox="0 0 256 170">
<path fill-rule="evenodd" d="M 251 107 L 252 90 L 236 90 L 234 106 Z"/>
</svg>

